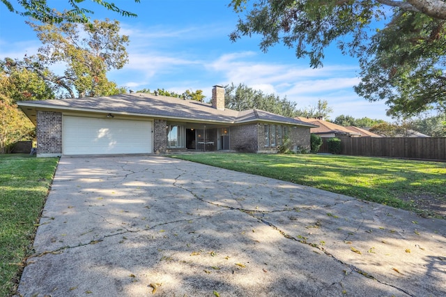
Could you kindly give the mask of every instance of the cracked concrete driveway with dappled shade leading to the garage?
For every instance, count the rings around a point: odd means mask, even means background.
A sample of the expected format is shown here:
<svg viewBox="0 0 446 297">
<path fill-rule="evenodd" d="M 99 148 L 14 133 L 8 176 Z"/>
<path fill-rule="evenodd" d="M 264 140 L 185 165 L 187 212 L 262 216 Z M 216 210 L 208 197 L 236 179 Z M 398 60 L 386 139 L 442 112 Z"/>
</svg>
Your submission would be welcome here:
<svg viewBox="0 0 446 297">
<path fill-rule="evenodd" d="M 21 296 L 445 296 L 446 224 L 159 156 L 61 158 Z"/>
</svg>

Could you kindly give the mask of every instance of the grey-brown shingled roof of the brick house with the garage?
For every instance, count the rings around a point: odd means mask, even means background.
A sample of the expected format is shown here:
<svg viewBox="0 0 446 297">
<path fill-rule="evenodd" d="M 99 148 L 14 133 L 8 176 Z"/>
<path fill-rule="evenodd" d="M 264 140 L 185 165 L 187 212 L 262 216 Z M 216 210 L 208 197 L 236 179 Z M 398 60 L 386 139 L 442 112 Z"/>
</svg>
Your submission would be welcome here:
<svg viewBox="0 0 446 297">
<path fill-rule="evenodd" d="M 151 93 L 125 93 L 95 98 L 19 101 L 17 105 L 22 108 L 33 123 L 36 123 L 36 110 L 51 110 L 56 112 L 113 113 L 210 123 L 266 121 L 315 127 L 311 123 L 264 112 L 259 109 L 249 109 L 241 112 L 233 109 L 219 110 L 208 103 L 156 96 Z"/>
</svg>

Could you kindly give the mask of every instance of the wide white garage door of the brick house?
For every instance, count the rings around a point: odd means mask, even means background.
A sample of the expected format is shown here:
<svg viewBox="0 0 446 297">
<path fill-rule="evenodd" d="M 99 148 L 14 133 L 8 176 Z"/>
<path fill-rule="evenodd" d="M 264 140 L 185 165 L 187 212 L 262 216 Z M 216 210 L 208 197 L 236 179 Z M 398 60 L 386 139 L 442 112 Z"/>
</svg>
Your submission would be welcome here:
<svg viewBox="0 0 446 297">
<path fill-rule="evenodd" d="M 152 122 L 63 116 L 63 154 L 152 153 Z"/>
</svg>

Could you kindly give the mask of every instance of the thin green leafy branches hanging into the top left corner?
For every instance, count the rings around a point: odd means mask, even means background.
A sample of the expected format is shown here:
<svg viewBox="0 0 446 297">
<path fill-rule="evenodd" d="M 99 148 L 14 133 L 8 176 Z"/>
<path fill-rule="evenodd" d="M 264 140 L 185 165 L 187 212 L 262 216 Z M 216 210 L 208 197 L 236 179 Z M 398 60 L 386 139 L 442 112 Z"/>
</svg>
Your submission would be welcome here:
<svg viewBox="0 0 446 297">
<path fill-rule="evenodd" d="M 89 22 L 88 15 L 93 14 L 93 10 L 79 6 L 79 3 L 85 0 L 67 0 L 70 10 L 56 10 L 48 5 L 47 0 L 18 0 L 18 5 L 24 9 L 23 11 L 17 10 L 10 0 L 1 0 L 1 2 L 8 8 L 11 13 L 17 13 L 24 17 L 32 17 L 40 22 L 53 24 L 61 22 Z M 140 0 L 134 0 L 139 3 Z M 127 10 L 118 8 L 113 2 L 104 0 L 93 0 L 94 3 L 112 10 L 115 13 L 119 13 L 125 17 L 136 17 L 135 13 L 131 13 Z"/>
</svg>

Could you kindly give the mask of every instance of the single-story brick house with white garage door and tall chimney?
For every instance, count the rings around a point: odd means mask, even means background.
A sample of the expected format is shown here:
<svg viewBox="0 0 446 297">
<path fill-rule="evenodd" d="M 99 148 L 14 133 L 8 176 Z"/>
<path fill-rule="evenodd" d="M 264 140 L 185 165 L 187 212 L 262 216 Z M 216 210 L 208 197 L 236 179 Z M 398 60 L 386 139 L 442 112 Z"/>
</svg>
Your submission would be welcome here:
<svg viewBox="0 0 446 297">
<path fill-rule="evenodd" d="M 316 127 L 257 109 L 225 109 L 222 86 L 214 86 L 212 104 L 127 93 L 17 105 L 36 125 L 38 157 L 186 150 L 275 153 L 285 137 L 294 149 L 309 148 L 309 129 Z"/>
</svg>

